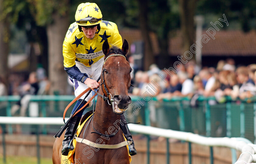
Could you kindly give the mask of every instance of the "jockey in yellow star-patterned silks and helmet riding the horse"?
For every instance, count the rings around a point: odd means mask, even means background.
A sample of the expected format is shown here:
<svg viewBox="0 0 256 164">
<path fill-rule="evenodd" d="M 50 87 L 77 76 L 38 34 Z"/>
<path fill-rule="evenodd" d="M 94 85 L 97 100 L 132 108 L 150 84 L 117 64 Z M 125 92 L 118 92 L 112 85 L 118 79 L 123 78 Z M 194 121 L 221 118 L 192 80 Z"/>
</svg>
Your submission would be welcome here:
<svg viewBox="0 0 256 164">
<path fill-rule="evenodd" d="M 69 30 L 66 33 L 63 43 L 63 56 L 64 69 L 73 82 L 75 95 L 78 96 L 88 87 L 91 89 L 97 89 L 99 87 L 96 80 L 101 75 L 101 68 L 104 62 L 104 54 L 102 52 L 103 42 L 108 39 L 110 45 L 121 48 L 122 37 L 115 23 L 102 20 L 101 11 L 95 3 L 81 3 L 76 10 L 75 18 L 76 22 L 69 26 Z M 84 97 L 85 95 L 77 100 L 72 114 Z M 80 108 L 91 97 L 92 93 L 83 101 Z M 91 105 L 92 102 L 89 103 L 89 107 Z M 68 152 L 74 149 L 72 142 L 70 146 L 69 143 L 76 132 L 84 109 L 70 120 L 69 126 L 66 129 L 65 139 L 62 141 L 62 155 L 67 156 Z M 121 120 L 126 123 L 124 115 L 121 115 Z M 127 140 L 133 142 L 127 124 L 124 124 L 121 129 Z M 129 148 L 130 155 L 137 154 L 134 148 L 134 142 Z"/>
</svg>

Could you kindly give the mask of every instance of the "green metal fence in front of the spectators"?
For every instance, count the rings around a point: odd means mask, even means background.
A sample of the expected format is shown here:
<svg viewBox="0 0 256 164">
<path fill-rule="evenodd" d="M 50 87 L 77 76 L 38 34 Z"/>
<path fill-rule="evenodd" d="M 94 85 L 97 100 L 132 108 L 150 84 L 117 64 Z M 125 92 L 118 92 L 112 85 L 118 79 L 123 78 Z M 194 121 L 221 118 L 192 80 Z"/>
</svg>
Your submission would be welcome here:
<svg viewBox="0 0 256 164">
<path fill-rule="evenodd" d="M 74 98 L 73 95 L 31 96 L 30 102 L 37 103 L 38 116 L 62 117 L 64 109 Z M 11 116 L 11 107 L 19 100 L 19 96 L 0 97 L 0 116 Z M 141 122 L 141 125 L 193 132 L 203 136 L 245 137 L 251 142 L 255 141 L 256 98 L 233 101 L 228 97 L 226 103 L 220 104 L 214 97 L 199 97 L 197 105 L 193 107 L 187 97 L 146 100 L 132 96 L 132 103 L 126 111 L 127 122 Z M 141 108 L 133 109 L 134 103 Z M 72 109 L 73 106 L 66 117 L 69 117 Z M 87 110 L 90 109 L 92 107 Z M 29 109 L 27 115 L 29 116 Z M 51 131 L 54 128 L 59 129 L 57 126 L 45 127 L 41 133 L 54 133 L 56 130 Z M 8 132 L 12 132 L 11 126 L 8 126 Z"/>
</svg>

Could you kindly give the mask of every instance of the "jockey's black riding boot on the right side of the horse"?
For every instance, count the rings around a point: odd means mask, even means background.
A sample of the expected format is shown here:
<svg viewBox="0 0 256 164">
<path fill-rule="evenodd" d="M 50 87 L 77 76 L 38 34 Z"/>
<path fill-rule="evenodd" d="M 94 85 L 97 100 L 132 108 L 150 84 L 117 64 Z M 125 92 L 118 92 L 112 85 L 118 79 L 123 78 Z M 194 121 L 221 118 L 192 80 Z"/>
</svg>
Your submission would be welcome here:
<svg viewBox="0 0 256 164">
<path fill-rule="evenodd" d="M 134 142 L 133 142 L 133 138 L 132 138 L 131 132 L 130 132 L 130 130 L 129 130 L 127 124 L 126 124 L 126 120 L 125 120 L 124 115 L 121 115 L 120 119 L 121 119 L 121 121 L 122 121 L 123 124 L 124 124 L 124 125 L 122 125 L 122 124 L 120 123 L 120 128 L 121 128 L 121 130 L 123 131 L 124 136 L 126 137 L 126 139 L 127 139 L 128 141 L 131 141 L 131 142 L 132 142 L 132 144 L 129 145 L 129 154 L 130 154 L 131 156 L 134 156 L 134 155 L 137 154 L 137 150 L 136 150 L 135 147 L 134 147 Z"/>
</svg>

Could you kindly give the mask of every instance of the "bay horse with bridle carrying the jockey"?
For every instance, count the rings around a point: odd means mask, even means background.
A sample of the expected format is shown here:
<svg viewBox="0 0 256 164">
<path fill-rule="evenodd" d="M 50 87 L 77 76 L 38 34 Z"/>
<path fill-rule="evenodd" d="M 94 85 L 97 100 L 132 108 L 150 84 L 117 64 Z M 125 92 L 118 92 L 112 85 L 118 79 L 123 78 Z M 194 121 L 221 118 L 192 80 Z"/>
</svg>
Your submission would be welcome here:
<svg viewBox="0 0 256 164">
<path fill-rule="evenodd" d="M 123 114 L 124 109 L 127 109 L 131 103 L 128 90 L 131 86 L 130 73 L 132 69 L 126 57 L 128 49 L 129 45 L 126 40 L 123 42 L 122 49 L 118 49 L 115 46 L 110 49 L 107 40 L 102 45 L 105 62 L 102 67 L 102 83 L 99 87 L 98 95 L 107 95 L 105 99 L 108 100 L 105 101 L 98 96 L 93 119 L 91 122 L 87 121 L 86 125 L 84 125 L 87 126 L 87 129 L 83 128 L 80 132 L 80 134 L 84 134 L 84 139 L 105 145 L 115 145 L 125 141 L 119 126 L 120 114 Z M 85 132 L 84 129 L 86 129 Z M 53 164 L 61 164 L 64 133 L 55 140 L 52 155 Z M 118 149 L 99 149 L 76 142 L 74 156 L 75 164 L 130 163 L 126 146 Z"/>
</svg>

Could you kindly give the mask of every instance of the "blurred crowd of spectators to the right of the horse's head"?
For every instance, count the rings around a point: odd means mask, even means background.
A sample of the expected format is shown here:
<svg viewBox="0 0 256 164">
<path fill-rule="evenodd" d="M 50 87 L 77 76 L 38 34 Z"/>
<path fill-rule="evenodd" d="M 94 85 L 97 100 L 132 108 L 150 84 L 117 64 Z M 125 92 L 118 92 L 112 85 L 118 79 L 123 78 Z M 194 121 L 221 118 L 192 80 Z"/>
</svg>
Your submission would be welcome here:
<svg viewBox="0 0 256 164">
<path fill-rule="evenodd" d="M 148 92 L 158 100 L 171 99 L 175 96 L 215 96 L 218 102 L 225 102 L 226 96 L 236 100 L 256 95 L 256 64 L 236 67 L 233 59 L 226 59 L 220 60 L 216 68 L 200 69 L 190 61 L 176 71 L 170 71 L 170 75 L 155 64 L 150 66 L 149 71 L 137 71 L 132 77 L 135 87 L 131 94 L 142 96 Z M 163 78 L 159 75 L 161 72 L 165 72 L 167 76 Z M 153 94 L 146 89 L 152 80 L 161 88 Z"/>
</svg>

